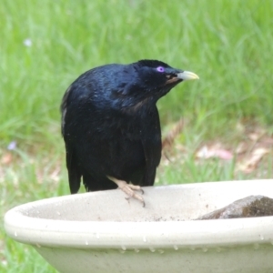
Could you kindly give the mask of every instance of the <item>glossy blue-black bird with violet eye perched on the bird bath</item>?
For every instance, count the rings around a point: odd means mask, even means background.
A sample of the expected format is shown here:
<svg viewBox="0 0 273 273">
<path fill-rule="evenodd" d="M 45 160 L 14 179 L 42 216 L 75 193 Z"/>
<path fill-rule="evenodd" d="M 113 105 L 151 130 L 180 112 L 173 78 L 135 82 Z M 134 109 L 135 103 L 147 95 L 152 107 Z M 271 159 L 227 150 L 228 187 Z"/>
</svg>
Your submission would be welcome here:
<svg viewBox="0 0 273 273">
<path fill-rule="evenodd" d="M 61 105 L 71 193 L 83 177 L 86 191 L 120 187 L 145 206 L 134 190 L 154 185 L 160 162 L 157 100 L 197 78 L 156 60 L 99 66 L 79 76 Z"/>
</svg>

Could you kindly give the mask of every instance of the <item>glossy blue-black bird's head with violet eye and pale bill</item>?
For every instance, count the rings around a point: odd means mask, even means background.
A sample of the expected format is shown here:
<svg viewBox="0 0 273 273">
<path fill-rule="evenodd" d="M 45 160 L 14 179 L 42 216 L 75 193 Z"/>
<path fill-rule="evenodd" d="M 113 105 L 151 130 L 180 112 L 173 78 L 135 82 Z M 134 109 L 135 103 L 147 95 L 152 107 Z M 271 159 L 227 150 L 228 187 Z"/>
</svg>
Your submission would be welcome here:
<svg viewBox="0 0 273 273">
<path fill-rule="evenodd" d="M 199 78 L 192 72 L 173 68 L 157 60 L 140 60 L 129 66 L 130 70 L 134 70 L 135 76 L 123 94 L 130 97 L 131 106 L 144 106 L 146 102 L 156 103 L 182 81 Z"/>
</svg>

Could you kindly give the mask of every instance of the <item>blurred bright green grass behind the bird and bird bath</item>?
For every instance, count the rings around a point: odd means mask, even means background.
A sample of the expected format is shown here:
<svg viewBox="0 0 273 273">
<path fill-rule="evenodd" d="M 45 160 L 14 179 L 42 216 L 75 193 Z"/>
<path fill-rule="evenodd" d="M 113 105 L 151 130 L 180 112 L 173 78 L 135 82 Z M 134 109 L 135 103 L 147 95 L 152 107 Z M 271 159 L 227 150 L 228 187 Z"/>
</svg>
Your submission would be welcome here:
<svg viewBox="0 0 273 273">
<path fill-rule="evenodd" d="M 241 119 L 271 133 L 272 10 L 270 0 L 2 1 L 1 217 L 15 205 L 69 194 L 59 105 L 66 87 L 94 66 L 152 58 L 197 73 L 198 82 L 158 102 L 163 128 L 187 119 L 179 141 L 192 150 L 217 137 L 235 141 Z M 160 169 L 158 183 L 233 178 L 232 162 L 200 167 L 191 156 Z M 0 228 L 1 272 L 56 272 L 7 238 L 3 221 Z"/>
</svg>

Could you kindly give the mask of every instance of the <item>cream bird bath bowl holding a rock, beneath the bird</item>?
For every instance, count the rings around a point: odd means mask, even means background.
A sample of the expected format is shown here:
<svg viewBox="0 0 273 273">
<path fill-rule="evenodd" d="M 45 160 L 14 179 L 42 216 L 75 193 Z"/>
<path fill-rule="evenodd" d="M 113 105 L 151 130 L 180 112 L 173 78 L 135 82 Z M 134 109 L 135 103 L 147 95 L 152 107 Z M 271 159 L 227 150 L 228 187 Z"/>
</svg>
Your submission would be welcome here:
<svg viewBox="0 0 273 273">
<path fill-rule="evenodd" d="M 120 190 L 53 197 L 5 214 L 5 230 L 53 267 L 75 272 L 273 272 L 273 217 L 193 220 L 273 180 L 145 187 L 146 207 Z"/>
</svg>

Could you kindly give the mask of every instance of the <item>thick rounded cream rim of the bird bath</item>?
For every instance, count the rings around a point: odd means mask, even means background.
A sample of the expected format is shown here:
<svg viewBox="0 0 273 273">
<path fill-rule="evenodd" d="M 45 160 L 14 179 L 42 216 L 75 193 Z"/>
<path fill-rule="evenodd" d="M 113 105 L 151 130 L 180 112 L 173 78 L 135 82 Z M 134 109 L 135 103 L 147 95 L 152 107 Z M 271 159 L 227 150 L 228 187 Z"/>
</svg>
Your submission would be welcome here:
<svg viewBox="0 0 273 273">
<path fill-rule="evenodd" d="M 153 202 L 153 196 L 168 195 L 170 191 L 187 191 L 189 189 L 209 187 L 230 187 L 230 183 L 237 188 L 246 187 L 248 196 L 251 188 L 261 190 L 258 194 L 267 195 L 268 183 L 273 180 L 248 180 L 207 182 L 196 184 L 144 187 L 149 202 Z M 248 183 L 248 185 L 246 184 Z M 264 190 L 262 190 L 264 188 Z M 160 192 L 161 191 L 161 192 Z M 225 190 L 224 190 L 225 191 Z M 252 190 L 253 191 L 253 190 Z M 209 191 L 208 191 L 209 194 Z M 253 194 L 253 193 L 252 193 Z M 118 190 L 109 190 L 96 193 L 85 193 L 74 196 L 52 197 L 18 207 L 14 207 L 5 214 L 5 230 L 16 241 L 33 246 L 45 246 L 53 248 L 219 248 L 232 247 L 234 245 L 273 244 L 273 217 L 250 217 L 236 219 L 217 220 L 167 220 L 167 221 L 106 221 L 106 220 L 67 220 L 43 218 L 39 209 L 50 207 L 53 204 L 64 204 L 82 198 L 96 196 L 117 197 L 117 207 L 126 206 L 122 195 Z M 250 193 L 251 195 L 251 193 Z M 234 197 L 233 201 L 240 197 Z M 156 202 L 157 200 L 155 200 Z M 121 203 L 121 205 L 118 205 Z M 159 204 L 160 205 L 160 204 Z M 158 209 L 160 206 L 158 205 Z M 61 205 L 60 205 L 61 206 Z M 60 207 L 59 206 L 59 207 Z M 140 209 L 149 210 L 149 207 L 141 207 L 136 200 L 127 205 L 143 213 Z M 58 206 L 56 206 L 58 207 Z M 164 207 L 164 206 L 163 206 Z M 113 209 L 111 207 L 110 209 Z M 217 207 L 219 208 L 219 207 Z M 126 208 L 125 208 L 126 209 Z M 28 211 L 36 211 L 35 217 L 30 217 Z M 43 210 L 43 209 L 42 209 Z M 56 213 L 57 214 L 57 213 Z M 55 217 L 56 217 L 55 214 Z M 60 215 L 59 217 L 65 217 Z"/>
</svg>

